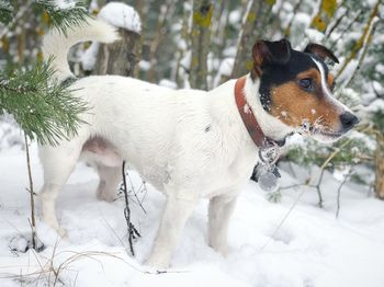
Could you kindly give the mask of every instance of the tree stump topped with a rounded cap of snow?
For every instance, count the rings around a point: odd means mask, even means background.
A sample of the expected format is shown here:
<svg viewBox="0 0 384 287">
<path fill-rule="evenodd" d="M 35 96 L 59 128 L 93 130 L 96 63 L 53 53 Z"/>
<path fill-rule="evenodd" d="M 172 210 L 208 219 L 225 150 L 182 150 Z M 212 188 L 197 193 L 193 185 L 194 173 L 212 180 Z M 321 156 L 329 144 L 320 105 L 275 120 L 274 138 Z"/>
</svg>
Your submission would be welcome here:
<svg viewBox="0 0 384 287">
<path fill-rule="evenodd" d="M 101 9 L 99 19 L 118 27 L 121 41 L 100 44 L 93 74 L 134 76 L 140 57 L 140 19 L 129 5 L 110 2 Z"/>
</svg>

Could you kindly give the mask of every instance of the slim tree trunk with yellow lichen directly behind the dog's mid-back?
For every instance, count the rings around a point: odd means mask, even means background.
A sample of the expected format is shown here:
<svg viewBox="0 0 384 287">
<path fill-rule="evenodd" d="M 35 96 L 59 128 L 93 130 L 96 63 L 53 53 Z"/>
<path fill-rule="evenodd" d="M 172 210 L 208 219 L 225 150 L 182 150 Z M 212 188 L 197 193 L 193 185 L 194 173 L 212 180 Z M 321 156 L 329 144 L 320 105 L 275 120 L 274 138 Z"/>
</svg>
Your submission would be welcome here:
<svg viewBox="0 0 384 287">
<path fill-rule="evenodd" d="M 193 2 L 192 58 L 190 84 L 193 89 L 207 90 L 207 56 L 211 42 L 213 4 L 208 0 Z"/>
</svg>

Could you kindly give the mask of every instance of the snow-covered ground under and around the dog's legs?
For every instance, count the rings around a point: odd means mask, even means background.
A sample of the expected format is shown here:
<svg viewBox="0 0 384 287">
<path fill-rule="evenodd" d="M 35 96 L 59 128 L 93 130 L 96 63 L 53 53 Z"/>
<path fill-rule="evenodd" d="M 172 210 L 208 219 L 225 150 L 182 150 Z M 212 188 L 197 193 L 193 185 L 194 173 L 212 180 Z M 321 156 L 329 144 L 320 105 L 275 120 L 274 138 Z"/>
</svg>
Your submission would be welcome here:
<svg viewBox="0 0 384 287">
<path fill-rule="evenodd" d="M 36 146 L 32 146 L 35 188 L 42 184 Z M 57 163 L 59 164 L 59 162 Z M 283 173 L 282 185 L 294 180 Z M 303 170 L 301 171 L 303 174 Z M 136 185 L 140 180 L 131 173 Z M 304 174 L 305 175 L 305 174 Z M 304 176 L 302 175 L 302 176 Z M 172 267 L 157 274 L 140 263 L 148 255 L 165 198 L 148 186 L 145 214 L 132 204 L 133 221 L 142 233 L 128 245 L 123 216 L 124 200 L 98 202 L 95 173 L 79 165 L 59 196 L 58 214 L 68 231 L 59 239 L 41 220 L 37 232 L 46 249 L 39 253 L 11 252 L 30 234 L 30 204 L 25 156 L 18 147 L 0 151 L 0 286 L 384 286 L 384 203 L 362 187 L 341 191 L 329 174 L 323 186 L 325 208 L 316 207 L 314 190 L 307 190 L 276 230 L 301 191 L 286 190 L 282 202 L 267 200 L 266 193 L 249 182 L 242 191 L 229 232 L 229 255 L 224 259 L 206 245 L 206 202 L 189 220 Z M 117 197 L 117 196 L 116 196 Z M 37 210 L 39 205 L 37 204 Z"/>
</svg>

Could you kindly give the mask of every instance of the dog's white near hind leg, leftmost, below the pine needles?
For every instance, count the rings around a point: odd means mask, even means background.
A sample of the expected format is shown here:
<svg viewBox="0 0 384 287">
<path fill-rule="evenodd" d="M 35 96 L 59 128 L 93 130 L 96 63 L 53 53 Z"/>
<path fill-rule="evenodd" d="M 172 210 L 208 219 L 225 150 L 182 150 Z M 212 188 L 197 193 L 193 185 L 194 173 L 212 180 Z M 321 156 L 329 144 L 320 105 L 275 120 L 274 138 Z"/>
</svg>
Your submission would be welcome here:
<svg viewBox="0 0 384 287">
<path fill-rule="evenodd" d="M 39 148 L 44 169 L 44 185 L 39 194 L 43 220 L 61 237 L 65 236 L 65 230 L 60 228 L 56 217 L 56 198 L 74 171 L 80 152 L 81 145 L 77 145 L 77 142 L 66 142 L 59 148 L 48 146 Z"/>
</svg>

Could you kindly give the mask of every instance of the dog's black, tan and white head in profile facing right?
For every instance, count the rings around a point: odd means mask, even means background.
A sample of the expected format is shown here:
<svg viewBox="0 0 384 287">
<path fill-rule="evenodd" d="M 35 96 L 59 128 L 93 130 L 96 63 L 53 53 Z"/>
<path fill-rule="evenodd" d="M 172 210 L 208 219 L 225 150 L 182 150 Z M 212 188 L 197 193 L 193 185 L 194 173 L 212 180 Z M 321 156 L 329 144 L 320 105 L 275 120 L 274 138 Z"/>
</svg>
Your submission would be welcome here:
<svg viewBox="0 0 384 287">
<path fill-rule="evenodd" d="M 294 50 L 286 39 L 258 41 L 252 49 L 253 79 L 260 79 L 260 102 L 264 111 L 296 130 L 320 141 L 332 141 L 359 120 L 332 96 L 334 76 L 325 59 L 339 62 L 332 51 L 309 44 Z"/>
</svg>

